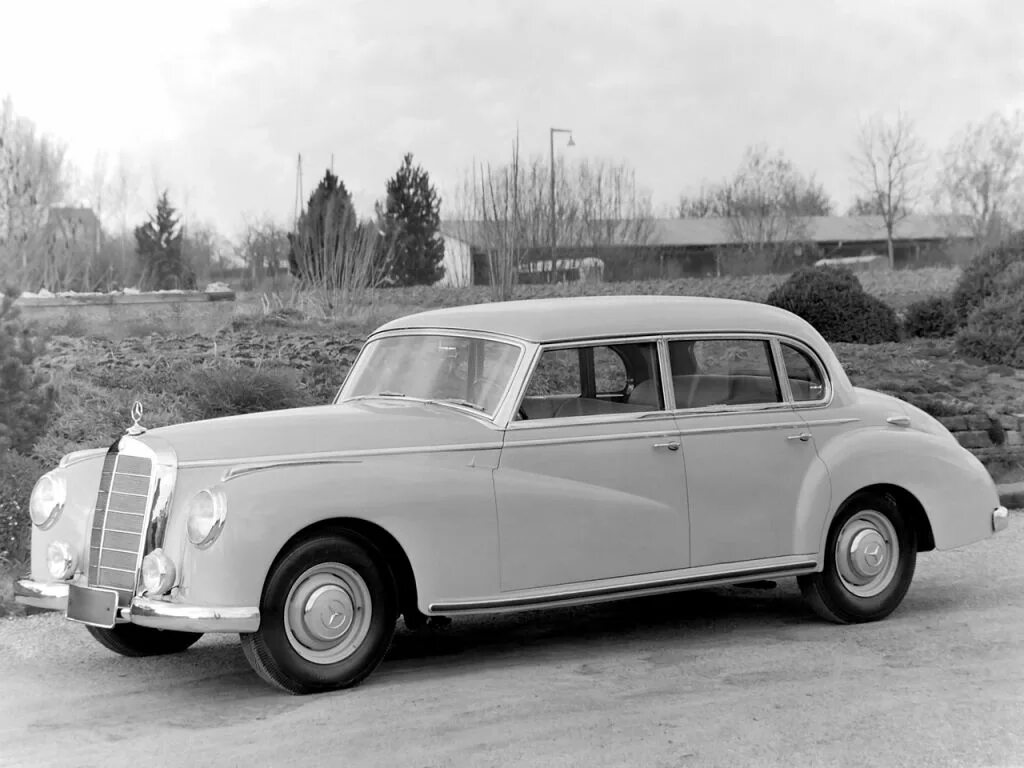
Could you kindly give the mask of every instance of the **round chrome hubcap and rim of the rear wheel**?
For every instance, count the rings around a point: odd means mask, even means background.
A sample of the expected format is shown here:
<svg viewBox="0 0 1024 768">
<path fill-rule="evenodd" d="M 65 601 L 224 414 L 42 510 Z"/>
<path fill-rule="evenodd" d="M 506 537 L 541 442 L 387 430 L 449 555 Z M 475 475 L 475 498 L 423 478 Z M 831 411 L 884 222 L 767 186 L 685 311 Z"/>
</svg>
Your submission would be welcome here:
<svg viewBox="0 0 1024 768">
<path fill-rule="evenodd" d="M 881 512 L 863 510 L 843 526 L 836 541 L 836 566 L 843 586 L 857 597 L 873 597 L 896 573 L 899 539 Z"/>
</svg>

